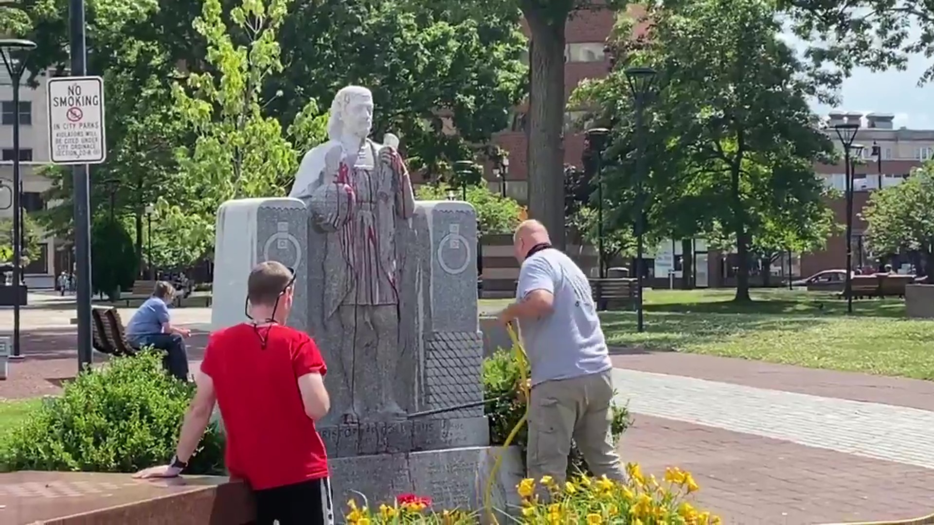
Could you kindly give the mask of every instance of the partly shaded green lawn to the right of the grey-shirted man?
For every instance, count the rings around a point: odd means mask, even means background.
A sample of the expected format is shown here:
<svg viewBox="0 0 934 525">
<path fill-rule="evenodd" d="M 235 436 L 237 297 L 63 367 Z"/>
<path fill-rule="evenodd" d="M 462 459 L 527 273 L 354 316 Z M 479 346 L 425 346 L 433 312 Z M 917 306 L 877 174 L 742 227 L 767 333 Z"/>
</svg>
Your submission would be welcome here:
<svg viewBox="0 0 934 525">
<path fill-rule="evenodd" d="M 645 332 L 634 312 L 607 312 L 614 346 L 934 379 L 934 321 L 904 319 L 899 299 L 846 302 L 806 291 L 753 291 L 751 304 L 732 290 L 645 291 Z"/>
</svg>

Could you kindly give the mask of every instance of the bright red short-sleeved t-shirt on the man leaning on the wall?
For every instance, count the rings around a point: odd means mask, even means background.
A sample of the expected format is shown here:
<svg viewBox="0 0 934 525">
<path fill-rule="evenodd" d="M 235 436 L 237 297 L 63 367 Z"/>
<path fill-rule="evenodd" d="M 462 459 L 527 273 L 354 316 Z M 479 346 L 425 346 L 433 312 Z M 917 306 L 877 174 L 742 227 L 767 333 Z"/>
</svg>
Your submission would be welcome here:
<svg viewBox="0 0 934 525">
<path fill-rule="evenodd" d="M 297 382 L 327 370 L 311 337 L 288 326 L 244 323 L 211 334 L 201 371 L 214 380 L 232 476 L 254 490 L 328 476 L 324 442 Z"/>
</svg>

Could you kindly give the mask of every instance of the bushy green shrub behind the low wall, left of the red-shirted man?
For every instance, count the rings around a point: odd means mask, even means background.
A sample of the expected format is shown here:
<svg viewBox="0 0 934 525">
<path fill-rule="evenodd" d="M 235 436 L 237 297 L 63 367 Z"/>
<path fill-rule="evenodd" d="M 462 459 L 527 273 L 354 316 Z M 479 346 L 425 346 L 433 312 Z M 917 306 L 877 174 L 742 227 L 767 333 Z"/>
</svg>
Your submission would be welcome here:
<svg viewBox="0 0 934 525">
<path fill-rule="evenodd" d="M 0 438 L 0 472 L 130 473 L 169 461 L 194 387 L 163 371 L 162 354 L 115 358 L 85 371 Z M 223 470 L 223 438 L 208 427 L 191 474 Z"/>
</svg>

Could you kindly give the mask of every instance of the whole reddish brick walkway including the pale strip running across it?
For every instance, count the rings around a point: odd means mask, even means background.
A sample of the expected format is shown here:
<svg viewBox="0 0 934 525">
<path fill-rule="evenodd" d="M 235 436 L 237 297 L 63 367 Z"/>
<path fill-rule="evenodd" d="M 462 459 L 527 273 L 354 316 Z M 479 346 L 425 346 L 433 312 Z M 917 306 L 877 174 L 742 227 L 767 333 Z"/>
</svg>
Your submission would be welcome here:
<svg viewBox="0 0 934 525">
<path fill-rule="evenodd" d="M 934 384 L 671 352 L 614 356 L 621 453 L 678 465 L 728 523 L 934 512 Z M 700 481 L 700 480 L 704 481 Z"/>
</svg>

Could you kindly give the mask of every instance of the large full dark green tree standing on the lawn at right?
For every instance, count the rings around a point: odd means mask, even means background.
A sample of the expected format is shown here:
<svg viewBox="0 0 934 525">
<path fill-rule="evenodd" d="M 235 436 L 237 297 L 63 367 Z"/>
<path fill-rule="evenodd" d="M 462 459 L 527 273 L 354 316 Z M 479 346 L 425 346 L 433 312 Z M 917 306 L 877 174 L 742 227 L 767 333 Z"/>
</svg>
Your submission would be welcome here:
<svg viewBox="0 0 934 525">
<path fill-rule="evenodd" d="M 767 0 L 651 7 L 646 16 L 653 23 L 643 37 L 632 38 L 634 21 L 619 22 L 613 44 L 620 60 L 611 76 L 575 95 L 599 107 L 595 118 L 613 124 L 605 177 L 615 216 L 625 221 L 619 227 L 628 227 L 639 206 L 623 69 L 648 65 L 659 72 L 647 118 L 646 233 L 731 239 L 741 261 L 738 301 L 749 300 L 758 237 L 814 231 L 798 223 L 829 227 L 813 166 L 833 149 L 807 103 L 817 86 L 780 38 L 778 15 Z"/>
</svg>

